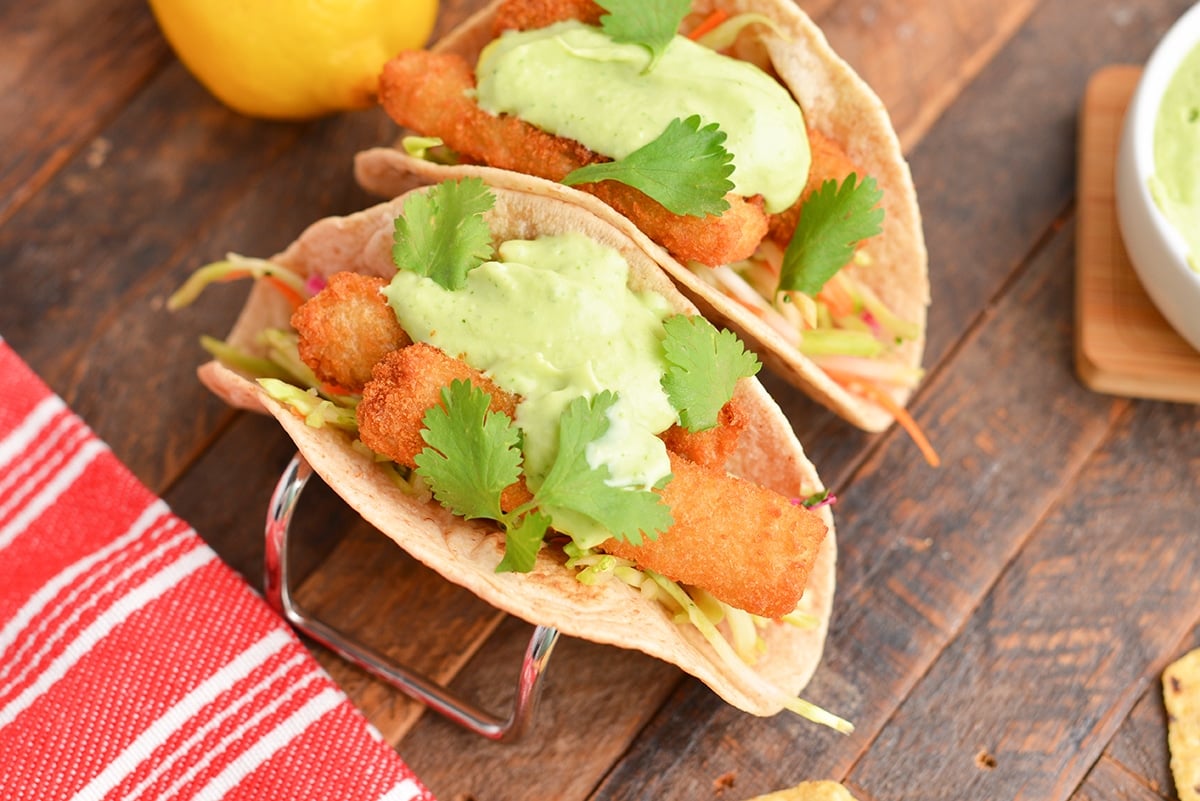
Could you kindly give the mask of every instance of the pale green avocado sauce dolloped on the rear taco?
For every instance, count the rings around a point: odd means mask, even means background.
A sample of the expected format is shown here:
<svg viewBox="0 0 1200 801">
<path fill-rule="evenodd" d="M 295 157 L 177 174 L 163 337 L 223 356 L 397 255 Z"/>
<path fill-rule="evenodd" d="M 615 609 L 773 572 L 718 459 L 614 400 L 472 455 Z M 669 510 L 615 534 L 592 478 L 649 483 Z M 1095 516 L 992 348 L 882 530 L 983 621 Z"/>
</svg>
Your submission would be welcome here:
<svg viewBox="0 0 1200 801">
<path fill-rule="evenodd" d="M 649 72 L 649 52 L 571 20 L 505 31 L 480 54 L 476 100 L 619 159 L 676 119 L 716 122 L 733 155 L 734 192 L 761 194 L 768 212 L 794 203 L 808 179 L 804 116 L 758 67 L 676 36 Z"/>
</svg>

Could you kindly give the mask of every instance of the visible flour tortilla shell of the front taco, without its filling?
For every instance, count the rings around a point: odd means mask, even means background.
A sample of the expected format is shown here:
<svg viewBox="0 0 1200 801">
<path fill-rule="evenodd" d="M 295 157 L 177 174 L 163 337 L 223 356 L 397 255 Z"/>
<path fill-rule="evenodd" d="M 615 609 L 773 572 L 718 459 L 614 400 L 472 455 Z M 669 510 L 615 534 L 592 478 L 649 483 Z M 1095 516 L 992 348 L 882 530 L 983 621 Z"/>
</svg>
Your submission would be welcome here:
<svg viewBox="0 0 1200 801">
<path fill-rule="evenodd" d="M 488 225 L 497 241 L 578 231 L 617 248 L 630 263 L 630 287 L 653 289 L 680 312 L 695 313 L 655 264 L 626 234 L 581 206 L 545 193 L 496 188 Z M 406 195 L 407 197 L 407 195 Z M 305 275 L 329 276 L 342 270 L 390 276 L 394 219 L 404 197 L 349 217 L 330 217 L 311 225 L 272 260 Z M 228 341 L 263 354 L 257 333 L 286 329 L 290 308 L 264 283 L 254 287 Z M 588 586 L 575 578 L 564 558 L 544 548 L 530 573 L 497 573 L 504 537 L 490 524 L 456 518 L 434 501 L 419 501 L 398 489 L 378 465 L 350 447 L 342 432 L 311 428 L 275 403 L 246 377 L 217 363 L 199 368 L 203 383 L 228 403 L 278 418 L 318 475 L 368 523 L 446 579 L 461 584 L 492 606 L 534 625 L 564 634 L 637 649 L 695 675 L 728 703 L 755 715 L 782 709 L 785 695 L 808 683 L 821 658 L 834 591 L 833 518 L 798 607 L 816 620 L 812 628 L 774 622 L 764 632 L 767 654 L 752 668 L 731 667 L 691 626 L 673 622 L 666 609 L 620 582 Z M 754 379 L 739 383 L 748 428 L 727 469 L 788 496 L 820 492 L 821 481 L 805 458 L 787 418 Z"/>
</svg>

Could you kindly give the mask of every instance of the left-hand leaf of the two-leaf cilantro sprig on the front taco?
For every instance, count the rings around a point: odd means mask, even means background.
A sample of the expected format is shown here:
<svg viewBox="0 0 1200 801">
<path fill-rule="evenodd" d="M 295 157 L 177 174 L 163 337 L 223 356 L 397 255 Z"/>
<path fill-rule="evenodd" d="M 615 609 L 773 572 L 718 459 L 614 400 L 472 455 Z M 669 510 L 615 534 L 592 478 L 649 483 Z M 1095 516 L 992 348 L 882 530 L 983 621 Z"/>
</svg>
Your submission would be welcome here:
<svg viewBox="0 0 1200 801">
<path fill-rule="evenodd" d="M 443 387 L 442 403 L 425 412 L 428 447 L 416 454 L 418 475 L 455 514 L 502 519 L 500 493 L 521 475 L 516 426 L 488 411 L 491 396 L 469 381 Z"/>
</svg>

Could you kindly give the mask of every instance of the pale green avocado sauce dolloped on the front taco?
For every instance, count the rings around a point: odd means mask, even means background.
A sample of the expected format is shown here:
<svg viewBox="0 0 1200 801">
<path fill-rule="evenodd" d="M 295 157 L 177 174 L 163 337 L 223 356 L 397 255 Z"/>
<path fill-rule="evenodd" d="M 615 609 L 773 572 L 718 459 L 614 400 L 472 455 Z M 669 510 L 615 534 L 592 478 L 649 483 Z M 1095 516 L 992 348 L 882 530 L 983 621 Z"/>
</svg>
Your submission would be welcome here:
<svg viewBox="0 0 1200 801">
<path fill-rule="evenodd" d="M 677 420 L 662 390 L 662 320 L 656 293 L 628 287 L 629 264 L 581 234 L 512 240 L 456 291 L 401 270 L 384 290 L 415 341 L 461 356 L 521 396 L 530 488 L 553 462 L 558 418 L 577 397 L 617 393 L 607 433 L 588 463 L 608 466 L 613 486 L 650 488 L 671 472 L 656 433 Z"/>
</svg>

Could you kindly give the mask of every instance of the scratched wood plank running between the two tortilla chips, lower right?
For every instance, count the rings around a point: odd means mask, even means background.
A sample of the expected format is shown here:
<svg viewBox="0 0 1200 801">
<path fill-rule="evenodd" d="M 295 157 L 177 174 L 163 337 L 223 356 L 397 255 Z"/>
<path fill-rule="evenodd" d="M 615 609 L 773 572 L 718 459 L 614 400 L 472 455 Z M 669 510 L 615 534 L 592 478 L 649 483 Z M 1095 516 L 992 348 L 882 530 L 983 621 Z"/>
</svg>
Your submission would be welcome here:
<svg viewBox="0 0 1200 801">
<path fill-rule="evenodd" d="M 1194 624 L 1162 610 L 1200 604 L 1186 523 L 1198 434 L 1193 406 L 1129 408 L 856 766 L 857 784 L 906 799 L 1069 797 Z M 980 775 L 976 748 L 1000 767 Z M 935 764 L 936 785 L 912 770 Z"/>
</svg>

